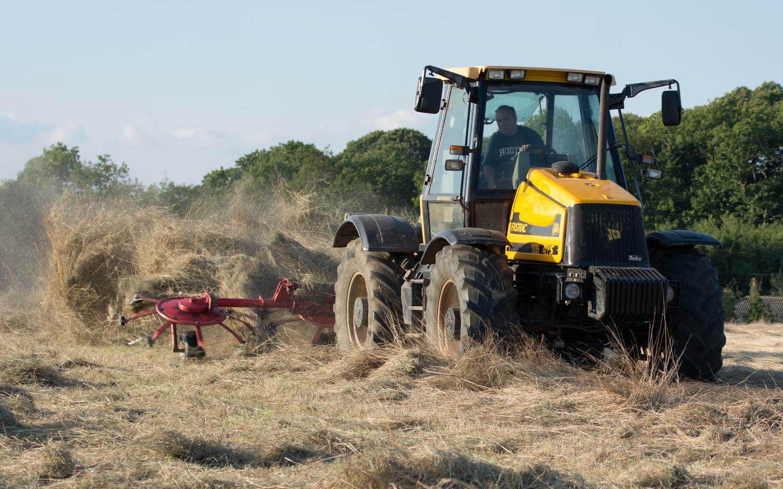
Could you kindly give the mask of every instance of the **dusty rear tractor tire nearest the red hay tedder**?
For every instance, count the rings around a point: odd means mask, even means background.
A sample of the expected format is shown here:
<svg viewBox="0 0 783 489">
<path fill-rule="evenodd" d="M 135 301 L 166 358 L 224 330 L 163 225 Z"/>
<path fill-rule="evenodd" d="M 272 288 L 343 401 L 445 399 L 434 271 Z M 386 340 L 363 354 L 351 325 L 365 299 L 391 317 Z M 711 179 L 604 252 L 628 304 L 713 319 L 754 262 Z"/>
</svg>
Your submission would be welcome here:
<svg viewBox="0 0 783 489">
<path fill-rule="evenodd" d="M 343 251 L 334 284 L 334 334 L 337 347 L 355 350 L 375 347 L 388 340 L 402 324 L 402 275 L 405 271 L 392 253 L 362 250 L 354 239 Z M 359 324 L 355 308 L 363 300 Z"/>
</svg>

